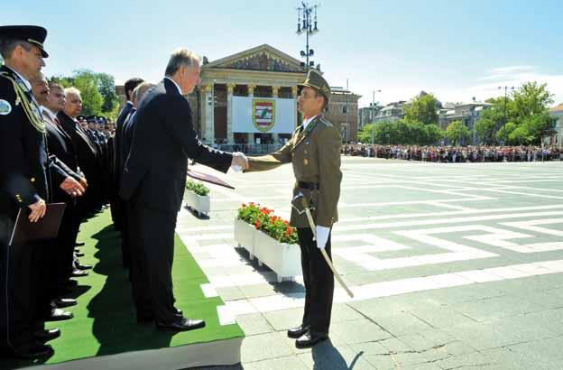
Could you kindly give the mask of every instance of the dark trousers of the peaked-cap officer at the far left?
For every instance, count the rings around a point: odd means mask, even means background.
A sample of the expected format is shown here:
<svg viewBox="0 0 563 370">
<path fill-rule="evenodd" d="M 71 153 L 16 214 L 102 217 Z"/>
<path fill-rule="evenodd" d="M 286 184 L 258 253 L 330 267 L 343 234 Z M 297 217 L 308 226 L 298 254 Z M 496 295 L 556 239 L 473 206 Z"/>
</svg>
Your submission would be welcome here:
<svg viewBox="0 0 563 370">
<path fill-rule="evenodd" d="M 14 227 L 0 214 L 0 347 L 20 347 L 33 340 L 30 295 L 32 247 L 8 245 Z"/>
</svg>

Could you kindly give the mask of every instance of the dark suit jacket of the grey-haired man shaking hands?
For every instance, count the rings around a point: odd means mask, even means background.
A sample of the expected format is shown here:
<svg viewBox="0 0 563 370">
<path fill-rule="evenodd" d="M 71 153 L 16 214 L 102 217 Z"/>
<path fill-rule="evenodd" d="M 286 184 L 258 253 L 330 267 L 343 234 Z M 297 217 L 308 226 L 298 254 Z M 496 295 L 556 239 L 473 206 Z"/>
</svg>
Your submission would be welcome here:
<svg viewBox="0 0 563 370">
<path fill-rule="evenodd" d="M 188 158 L 217 171 L 228 171 L 231 153 L 198 140 L 188 100 L 171 79 L 163 79 L 141 101 L 134 121 L 133 143 L 121 180 L 120 196 L 135 194 L 149 208 L 177 212 L 186 186 Z"/>
</svg>

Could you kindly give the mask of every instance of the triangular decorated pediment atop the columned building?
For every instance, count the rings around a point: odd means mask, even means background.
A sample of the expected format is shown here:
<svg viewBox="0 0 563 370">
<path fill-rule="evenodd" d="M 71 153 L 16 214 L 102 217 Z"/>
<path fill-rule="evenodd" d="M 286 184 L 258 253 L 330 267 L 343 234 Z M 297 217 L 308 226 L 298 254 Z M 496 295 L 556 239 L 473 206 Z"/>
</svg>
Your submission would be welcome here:
<svg viewBox="0 0 563 370">
<path fill-rule="evenodd" d="M 204 64 L 204 69 L 245 69 L 272 72 L 304 72 L 300 60 L 279 51 L 268 44 L 241 51 L 220 60 Z"/>
</svg>

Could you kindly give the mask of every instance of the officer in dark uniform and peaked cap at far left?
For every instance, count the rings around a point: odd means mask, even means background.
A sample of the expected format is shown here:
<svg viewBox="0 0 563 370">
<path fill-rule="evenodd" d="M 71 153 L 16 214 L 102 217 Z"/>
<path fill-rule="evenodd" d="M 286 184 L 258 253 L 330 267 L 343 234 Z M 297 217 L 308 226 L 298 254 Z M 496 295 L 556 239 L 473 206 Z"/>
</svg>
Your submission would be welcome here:
<svg viewBox="0 0 563 370">
<path fill-rule="evenodd" d="M 45 215 L 51 193 L 49 168 L 61 189 L 72 190 L 76 183 L 66 180 L 68 173 L 49 158 L 45 124 L 29 83 L 45 65 L 46 36 L 42 27 L 0 26 L 0 54 L 5 60 L 0 68 L 0 346 L 21 357 L 50 356 L 52 348 L 41 340 L 60 332 L 34 333 L 36 248 L 9 245 L 14 220 L 20 208 L 30 211 L 23 215 L 32 222 Z"/>
</svg>

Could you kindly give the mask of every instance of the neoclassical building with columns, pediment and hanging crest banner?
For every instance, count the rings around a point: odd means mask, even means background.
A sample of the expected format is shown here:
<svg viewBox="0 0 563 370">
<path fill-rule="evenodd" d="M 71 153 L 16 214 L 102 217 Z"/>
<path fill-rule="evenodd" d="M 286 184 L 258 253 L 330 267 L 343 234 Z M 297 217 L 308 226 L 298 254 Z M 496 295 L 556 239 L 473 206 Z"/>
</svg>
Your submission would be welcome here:
<svg viewBox="0 0 563 370">
<path fill-rule="evenodd" d="M 201 83 L 187 97 L 199 138 L 208 144 L 285 143 L 298 125 L 297 85 L 306 75 L 300 60 L 267 44 L 211 62 L 203 57 Z M 116 90 L 123 94 L 123 87 Z M 358 97 L 333 90 L 326 111 L 345 141 L 356 137 Z"/>
</svg>

